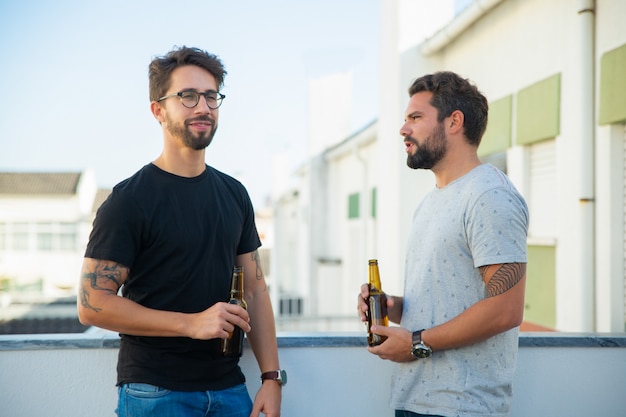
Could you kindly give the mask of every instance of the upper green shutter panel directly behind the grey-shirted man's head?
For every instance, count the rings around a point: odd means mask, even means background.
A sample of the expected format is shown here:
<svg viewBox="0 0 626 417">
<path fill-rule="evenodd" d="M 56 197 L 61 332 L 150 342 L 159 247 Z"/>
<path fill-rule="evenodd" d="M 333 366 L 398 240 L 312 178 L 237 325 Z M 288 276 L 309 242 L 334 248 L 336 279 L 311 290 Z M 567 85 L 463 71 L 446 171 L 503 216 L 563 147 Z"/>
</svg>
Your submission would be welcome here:
<svg viewBox="0 0 626 417">
<path fill-rule="evenodd" d="M 478 147 L 478 156 L 504 152 L 511 147 L 512 109 L 512 96 L 489 104 L 489 121 Z"/>
</svg>

